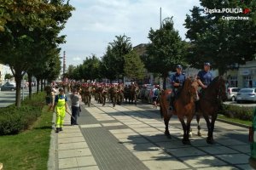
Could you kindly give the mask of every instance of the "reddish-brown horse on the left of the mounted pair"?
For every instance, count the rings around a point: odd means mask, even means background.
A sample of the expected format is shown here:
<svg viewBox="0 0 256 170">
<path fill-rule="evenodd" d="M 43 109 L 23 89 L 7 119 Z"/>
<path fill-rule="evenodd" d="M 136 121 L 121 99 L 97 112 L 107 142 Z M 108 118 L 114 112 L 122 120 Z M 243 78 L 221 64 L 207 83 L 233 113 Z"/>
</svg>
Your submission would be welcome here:
<svg viewBox="0 0 256 170">
<path fill-rule="evenodd" d="M 183 126 L 183 144 L 190 144 L 190 122 L 195 115 L 195 100 L 199 99 L 197 88 L 198 83 L 194 78 L 191 77 L 185 80 L 179 96 L 174 100 L 174 107 L 176 111 L 168 111 L 170 102 L 167 100 L 167 98 L 168 95 L 172 93 L 172 91 L 165 90 L 160 94 L 160 114 L 161 116 L 164 116 L 164 122 L 166 125 L 165 134 L 170 136 L 168 127 L 169 121 L 173 114 L 177 115 Z M 184 122 L 184 117 L 187 118 L 187 123 Z"/>
</svg>

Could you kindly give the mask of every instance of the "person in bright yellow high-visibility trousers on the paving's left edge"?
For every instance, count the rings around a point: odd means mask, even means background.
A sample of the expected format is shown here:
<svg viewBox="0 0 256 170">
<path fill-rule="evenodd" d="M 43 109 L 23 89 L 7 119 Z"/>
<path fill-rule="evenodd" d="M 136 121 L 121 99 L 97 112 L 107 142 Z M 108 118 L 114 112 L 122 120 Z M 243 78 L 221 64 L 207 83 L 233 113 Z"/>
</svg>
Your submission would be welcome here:
<svg viewBox="0 0 256 170">
<path fill-rule="evenodd" d="M 67 111 L 67 97 L 64 94 L 64 89 L 60 88 L 59 92 L 60 94 L 55 96 L 55 106 L 54 106 L 54 111 L 56 113 L 56 122 L 55 122 L 56 133 L 59 133 L 60 131 L 62 131 L 64 117 Z"/>
</svg>

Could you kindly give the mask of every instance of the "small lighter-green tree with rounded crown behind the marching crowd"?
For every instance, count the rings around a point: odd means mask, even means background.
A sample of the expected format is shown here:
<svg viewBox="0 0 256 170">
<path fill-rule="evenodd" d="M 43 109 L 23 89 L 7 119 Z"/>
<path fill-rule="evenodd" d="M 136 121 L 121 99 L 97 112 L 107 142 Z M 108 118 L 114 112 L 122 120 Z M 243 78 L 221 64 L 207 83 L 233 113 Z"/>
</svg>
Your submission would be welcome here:
<svg viewBox="0 0 256 170">
<path fill-rule="evenodd" d="M 143 61 L 135 51 L 125 55 L 124 71 L 125 77 L 140 80 L 145 77 Z"/>
</svg>

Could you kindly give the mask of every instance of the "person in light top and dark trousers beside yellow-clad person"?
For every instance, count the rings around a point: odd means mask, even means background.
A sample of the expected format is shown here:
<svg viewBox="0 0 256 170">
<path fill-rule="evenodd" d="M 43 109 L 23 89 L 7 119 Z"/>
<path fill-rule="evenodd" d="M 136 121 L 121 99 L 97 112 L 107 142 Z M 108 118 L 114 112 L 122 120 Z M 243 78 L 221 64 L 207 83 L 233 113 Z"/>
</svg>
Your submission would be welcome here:
<svg viewBox="0 0 256 170">
<path fill-rule="evenodd" d="M 71 125 L 79 125 L 78 124 L 78 116 L 79 116 L 79 111 L 80 111 L 80 104 L 79 104 L 79 92 L 77 88 L 73 89 L 73 94 L 70 94 L 70 99 L 71 99 L 71 111 L 72 111 L 72 116 L 71 116 Z"/>
</svg>

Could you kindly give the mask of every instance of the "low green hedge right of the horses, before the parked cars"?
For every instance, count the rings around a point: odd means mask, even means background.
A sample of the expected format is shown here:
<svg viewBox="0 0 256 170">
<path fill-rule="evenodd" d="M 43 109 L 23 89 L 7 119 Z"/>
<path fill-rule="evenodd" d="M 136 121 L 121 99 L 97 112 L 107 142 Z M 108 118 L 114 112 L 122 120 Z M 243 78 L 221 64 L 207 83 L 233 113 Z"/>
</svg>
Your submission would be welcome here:
<svg viewBox="0 0 256 170">
<path fill-rule="evenodd" d="M 224 116 L 230 118 L 237 118 L 243 121 L 253 120 L 253 108 L 252 107 L 241 107 L 237 105 L 224 105 L 224 111 L 220 112 Z"/>
</svg>

